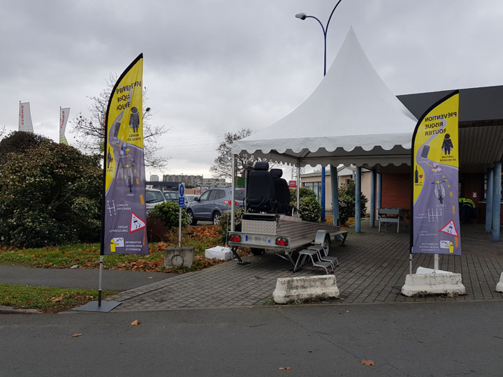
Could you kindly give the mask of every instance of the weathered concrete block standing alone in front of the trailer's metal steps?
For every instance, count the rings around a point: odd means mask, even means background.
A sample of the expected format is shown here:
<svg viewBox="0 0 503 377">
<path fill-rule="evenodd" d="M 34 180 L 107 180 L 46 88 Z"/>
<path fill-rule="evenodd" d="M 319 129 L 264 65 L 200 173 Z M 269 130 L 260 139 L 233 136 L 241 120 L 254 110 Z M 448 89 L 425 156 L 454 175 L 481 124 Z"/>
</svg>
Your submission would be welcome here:
<svg viewBox="0 0 503 377">
<path fill-rule="evenodd" d="M 277 304 L 295 301 L 321 301 L 339 298 L 334 275 L 279 278 L 272 298 Z"/>
</svg>

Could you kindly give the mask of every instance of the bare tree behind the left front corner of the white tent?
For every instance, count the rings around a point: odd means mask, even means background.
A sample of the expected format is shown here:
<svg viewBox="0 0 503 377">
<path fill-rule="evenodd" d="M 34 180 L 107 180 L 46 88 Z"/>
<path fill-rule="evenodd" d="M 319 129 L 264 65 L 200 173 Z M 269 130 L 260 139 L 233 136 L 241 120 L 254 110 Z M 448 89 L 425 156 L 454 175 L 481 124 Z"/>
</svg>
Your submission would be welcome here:
<svg viewBox="0 0 503 377">
<path fill-rule="evenodd" d="M 236 133 L 226 133 L 224 135 L 224 141 L 220 143 L 217 151 L 219 155 L 214 159 L 214 164 L 210 166 L 210 172 L 214 178 L 231 178 L 232 175 L 232 153 L 233 142 L 235 140 L 241 140 L 251 135 L 251 130 L 249 128 L 242 128 Z M 254 165 L 258 161 L 254 156 L 238 156 L 236 158 L 236 175 L 238 177 L 245 176 L 246 165 Z"/>
</svg>

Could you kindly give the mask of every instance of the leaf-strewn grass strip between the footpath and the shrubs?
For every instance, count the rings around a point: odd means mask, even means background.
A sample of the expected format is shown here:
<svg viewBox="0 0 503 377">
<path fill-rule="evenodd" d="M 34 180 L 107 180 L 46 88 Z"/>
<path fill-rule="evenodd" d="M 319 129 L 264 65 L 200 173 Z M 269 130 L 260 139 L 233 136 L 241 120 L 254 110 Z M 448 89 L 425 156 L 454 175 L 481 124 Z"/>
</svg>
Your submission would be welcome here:
<svg viewBox="0 0 503 377">
<path fill-rule="evenodd" d="M 168 242 L 152 242 L 149 244 L 150 255 L 137 254 L 103 257 L 105 269 L 128 269 L 133 271 L 175 272 L 183 273 L 203 269 L 219 263 L 204 258 L 205 250 L 220 244 L 217 226 L 189 227 L 182 235 L 182 245 L 194 246 L 196 255 L 192 267 L 175 269 L 164 268 L 162 248 L 177 244 L 178 233 Z M 159 247 L 158 246 L 161 246 Z M 0 264 L 24 265 L 38 268 L 69 268 L 77 265 L 79 268 L 99 267 L 100 244 L 73 244 L 65 246 L 45 246 L 38 249 L 17 249 L 0 247 Z"/>
</svg>

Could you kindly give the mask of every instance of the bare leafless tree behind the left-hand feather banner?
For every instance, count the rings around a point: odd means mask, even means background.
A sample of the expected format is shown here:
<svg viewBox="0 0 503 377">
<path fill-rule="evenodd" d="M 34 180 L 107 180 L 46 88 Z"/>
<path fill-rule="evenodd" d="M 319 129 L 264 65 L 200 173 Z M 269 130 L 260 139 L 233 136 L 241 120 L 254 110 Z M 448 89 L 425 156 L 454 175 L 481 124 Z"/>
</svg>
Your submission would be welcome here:
<svg viewBox="0 0 503 377">
<path fill-rule="evenodd" d="M 110 74 L 106 80 L 106 87 L 97 96 L 89 96 L 91 104 L 87 107 L 89 117 L 80 113 L 75 117 L 73 124 L 73 132 L 78 138 L 78 148 L 82 151 L 92 154 L 103 152 L 103 144 L 105 142 L 105 115 L 108 107 L 108 99 L 110 93 L 117 82 L 117 75 Z M 162 157 L 157 154 L 161 147 L 159 146 L 159 137 L 169 131 L 166 126 L 152 126 L 150 119 L 154 112 L 146 106 L 148 101 L 147 88 L 143 88 L 143 105 L 145 112 L 143 114 L 143 142 L 145 153 L 145 166 L 152 168 L 164 168 L 170 158 Z"/>
</svg>

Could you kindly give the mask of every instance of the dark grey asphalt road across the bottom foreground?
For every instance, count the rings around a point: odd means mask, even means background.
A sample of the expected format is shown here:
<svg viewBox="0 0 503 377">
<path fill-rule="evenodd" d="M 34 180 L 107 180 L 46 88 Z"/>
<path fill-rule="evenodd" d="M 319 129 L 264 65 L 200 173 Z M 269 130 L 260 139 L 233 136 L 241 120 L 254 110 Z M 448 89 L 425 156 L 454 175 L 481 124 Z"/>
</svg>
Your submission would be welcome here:
<svg viewBox="0 0 503 377">
<path fill-rule="evenodd" d="M 502 376 L 502 311 L 433 302 L 3 315 L 0 376 Z"/>
</svg>

